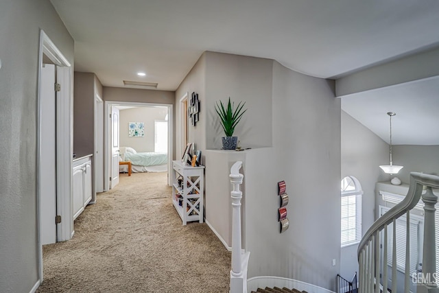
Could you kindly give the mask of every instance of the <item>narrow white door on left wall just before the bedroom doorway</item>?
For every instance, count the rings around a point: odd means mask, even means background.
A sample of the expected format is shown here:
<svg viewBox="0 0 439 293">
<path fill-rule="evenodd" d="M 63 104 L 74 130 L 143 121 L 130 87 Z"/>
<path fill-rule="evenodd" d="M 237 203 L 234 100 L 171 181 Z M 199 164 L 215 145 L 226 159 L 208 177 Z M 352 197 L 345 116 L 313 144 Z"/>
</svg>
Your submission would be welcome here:
<svg viewBox="0 0 439 293">
<path fill-rule="evenodd" d="M 95 102 L 95 192 L 104 191 L 104 103 Z M 94 200 L 93 200 L 94 201 Z"/>
</svg>

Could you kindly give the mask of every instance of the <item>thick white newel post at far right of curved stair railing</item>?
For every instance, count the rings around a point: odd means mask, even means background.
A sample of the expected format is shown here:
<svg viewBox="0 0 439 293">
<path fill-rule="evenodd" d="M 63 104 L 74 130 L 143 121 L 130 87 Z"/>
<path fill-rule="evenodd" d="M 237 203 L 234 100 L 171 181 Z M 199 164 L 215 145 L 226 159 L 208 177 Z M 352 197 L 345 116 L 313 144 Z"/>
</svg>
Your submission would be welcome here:
<svg viewBox="0 0 439 293">
<path fill-rule="evenodd" d="M 422 195 L 424 202 L 424 246 L 423 246 L 423 275 L 430 277 L 430 283 L 426 283 L 428 288 L 436 288 L 434 283 L 433 273 L 436 272 L 436 228 L 435 204 L 438 202 L 438 197 L 433 194 L 431 187 L 427 187 L 427 192 Z"/>
</svg>

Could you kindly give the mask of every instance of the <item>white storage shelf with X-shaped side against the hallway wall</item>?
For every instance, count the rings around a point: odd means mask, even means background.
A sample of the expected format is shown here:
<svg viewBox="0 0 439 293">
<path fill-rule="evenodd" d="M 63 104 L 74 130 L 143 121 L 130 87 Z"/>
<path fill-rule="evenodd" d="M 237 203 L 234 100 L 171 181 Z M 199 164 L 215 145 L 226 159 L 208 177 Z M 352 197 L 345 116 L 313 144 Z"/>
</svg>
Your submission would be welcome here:
<svg viewBox="0 0 439 293">
<path fill-rule="evenodd" d="M 192 167 L 183 165 L 181 161 L 172 161 L 172 203 L 183 225 L 193 221 L 203 222 L 203 198 L 204 166 Z"/>
</svg>

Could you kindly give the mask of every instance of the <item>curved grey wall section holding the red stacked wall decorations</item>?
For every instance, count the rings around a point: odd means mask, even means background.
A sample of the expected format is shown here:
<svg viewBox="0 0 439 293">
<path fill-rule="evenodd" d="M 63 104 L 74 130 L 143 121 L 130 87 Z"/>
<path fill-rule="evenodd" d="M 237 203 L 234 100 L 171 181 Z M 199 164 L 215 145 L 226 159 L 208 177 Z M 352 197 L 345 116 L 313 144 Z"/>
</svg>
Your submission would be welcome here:
<svg viewBox="0 0 439 293">
<path fill-rule="evenodd" d="M 276 61 L 272 76 L 273 149 L 255 154 L 254 165 L 246 167 L 258 183 L 246 184 L 246 248 L 253 261 L 249 277 L 270 274 L 335 290 L 340 270 L 340 100 L 333 81 L 302 75 Z M 289 194 L 290 226 L 283 234 L 276 219 L 281 180 Z"/>
</svg>

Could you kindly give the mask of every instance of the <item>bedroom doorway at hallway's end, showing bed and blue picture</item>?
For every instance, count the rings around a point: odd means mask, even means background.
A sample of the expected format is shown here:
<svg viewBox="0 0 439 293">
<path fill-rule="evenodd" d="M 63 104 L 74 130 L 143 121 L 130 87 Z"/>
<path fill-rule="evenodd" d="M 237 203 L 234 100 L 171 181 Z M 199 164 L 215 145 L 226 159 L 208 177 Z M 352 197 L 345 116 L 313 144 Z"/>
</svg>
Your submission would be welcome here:
<svg viewBox="0 0 439 293">
<path fill-rule="evenodd" d="M 172 104 L 107 101 L 104 108 L 104 191 L 112 188 L 110 176 L 113 172 L 119 173 L 119 165 L 112 162 L 111 154 L 114 145 L 112 134 L 115 133 L 110 117 L 112 108 L 119 110 L 118 161 L 132 161 L 132 172 L 167 172 L 171 168 L 174 150 Z M 132 153 L 136 153 L 135 158 Z M 137 159 L 141 162 L 134 161 Z M 120 168 L 128 171 L 127 165 Z M 169 180 L 168 175 L 167 185 L 170 185 Z"/>
</svg>

